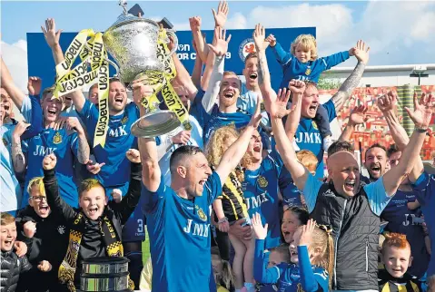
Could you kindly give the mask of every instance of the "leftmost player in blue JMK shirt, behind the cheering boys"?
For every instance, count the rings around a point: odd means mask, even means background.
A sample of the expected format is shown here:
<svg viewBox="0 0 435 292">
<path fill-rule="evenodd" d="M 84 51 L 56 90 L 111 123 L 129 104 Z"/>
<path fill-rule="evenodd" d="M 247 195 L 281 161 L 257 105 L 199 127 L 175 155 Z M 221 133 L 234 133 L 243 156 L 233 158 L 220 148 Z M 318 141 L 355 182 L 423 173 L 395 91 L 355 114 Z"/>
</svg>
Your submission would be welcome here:
<svg viewBox="0 0 435 292">
<path fill-rule="evenodd" d="M 27 185 L 35 177 L 44 176 L 44 171 L 35 165 L 42 165 L 44 156 L 54 153 L 58 159 L 59 168 L 56 169 L 59 184 L 60 196 L 71 206 L 78 206 L 77 187 L 74 183 L 74 156 L 85 164 L 89 160 L 89 145 L 84 129 L 77 118 L 67 118 L 65 128 L 54 130 L 54 122 L 58 119 L 64 99 L 54 98 L 53 89 L 45 89 L 42 94 L 42 108 L 44 114 L 44 130 L 35 137 L 23 140 L 22 132 L 14 132 L 14 144 L 22 141 L 23 153 L 13 156 L 15 171 L 23 172 L 25 166 L 25 193 L 21 207 L 28 205 L 29 193 Z M 24 155 L 23 155 L 24 154 Z M 21 158 L 21 159 L 20 159 Z"/>
</svg>

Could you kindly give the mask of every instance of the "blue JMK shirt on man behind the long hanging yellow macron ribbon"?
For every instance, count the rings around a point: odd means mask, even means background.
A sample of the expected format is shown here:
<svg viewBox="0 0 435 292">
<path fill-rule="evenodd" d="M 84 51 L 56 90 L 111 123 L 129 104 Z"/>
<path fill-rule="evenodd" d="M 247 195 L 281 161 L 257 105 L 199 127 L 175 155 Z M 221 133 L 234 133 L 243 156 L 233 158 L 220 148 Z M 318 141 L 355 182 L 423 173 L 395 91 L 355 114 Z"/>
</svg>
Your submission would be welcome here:
<svg viewBox="0 0 435 292">
<path fill-rule="evenodd" d="M 92 102 L 86 100 L 82 112 L 78 114 L 93 144 L 99 116 L 98 109 Z M 101 145 L 94 148 L 96 161 L 105 163 L 96 175 L 96 179 L 100 180 L 104 187 L 122 186 L 130 181 L 130 161 L 125 157 L 125 152 L 130 148 L 137 149 L 137 139 L 132 135 L 130 128 L 139 117 L 139 109 L 133 102 L 125 106 L 123 113 L 109 117 L 104 148 Z"/>
</svg>

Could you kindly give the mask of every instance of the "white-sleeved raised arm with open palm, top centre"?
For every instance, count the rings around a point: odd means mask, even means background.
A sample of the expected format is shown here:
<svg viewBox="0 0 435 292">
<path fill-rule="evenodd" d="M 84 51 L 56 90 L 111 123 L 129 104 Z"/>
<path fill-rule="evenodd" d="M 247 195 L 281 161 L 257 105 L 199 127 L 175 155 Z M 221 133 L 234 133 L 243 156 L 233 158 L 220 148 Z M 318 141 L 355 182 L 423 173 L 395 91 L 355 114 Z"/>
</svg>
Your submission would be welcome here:
<svg viewBox="0 0 435 292">
<path fill-rule="evenodd" d="M 207 91 L 203 96 L 203 108 L 206 112 L 212 112 L 216 97 L 219 95 L 219 89 L 223 77 L 223 65 L 225 60 L 225 54 L 228 51 L 228 43 L 230 43 L 231 34 L 225 40 L 225 30 L 222 27 L 214 28 L 213 44 L 208 44 L 211 49 L 209 58 L 213 60 L 213 72 L 210 77 L 210 82 L 207 85 Z M 212 56 L 211 56 L 212 55 Z"/>
</svg>

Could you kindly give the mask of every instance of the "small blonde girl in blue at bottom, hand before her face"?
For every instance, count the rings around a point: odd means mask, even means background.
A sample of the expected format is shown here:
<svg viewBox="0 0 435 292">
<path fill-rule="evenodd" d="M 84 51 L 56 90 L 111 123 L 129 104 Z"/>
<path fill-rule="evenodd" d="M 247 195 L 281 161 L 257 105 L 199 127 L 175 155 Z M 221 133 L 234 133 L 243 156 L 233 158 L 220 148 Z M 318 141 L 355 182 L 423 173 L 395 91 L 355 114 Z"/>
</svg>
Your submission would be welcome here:
<svg viewBox="0 0 435 292">
<path fill-rule="evenodd" d="M 255 234 L 254 277 L 264 284 L 277 283 L 280 292 L 329 291 L 333 267 L 333 239 L 331 231 L 325 226 L 316 226 L 310 219 L 307 225 L 297 229 L 290 245 L 292 264 L 281 263 L 272 268 L 264 264 L 264 238 L 267 224 L 257 213 L 252 217 L 252 229 Z"/>
</svg>

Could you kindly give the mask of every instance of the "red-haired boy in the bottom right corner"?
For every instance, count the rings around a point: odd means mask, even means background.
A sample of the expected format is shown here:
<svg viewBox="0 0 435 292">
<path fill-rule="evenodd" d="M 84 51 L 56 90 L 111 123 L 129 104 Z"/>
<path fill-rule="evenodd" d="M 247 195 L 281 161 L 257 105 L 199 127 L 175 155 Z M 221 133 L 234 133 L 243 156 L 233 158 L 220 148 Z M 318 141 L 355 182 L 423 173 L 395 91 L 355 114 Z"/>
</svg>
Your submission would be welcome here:
<svg viewBox="0 0 435 292">
<path fill-rule="evenodd" d="M 382 263 L 385 269 L 378 274 L 379 290 L 384 291 L 421 291 L 420 282 L 417 277 L 407 273 L 412 263 L 410 256 L 410 243 L 406 236 L 399 233 L 384 234 L 385 240 L 382 244 Z"/>
</svg>

